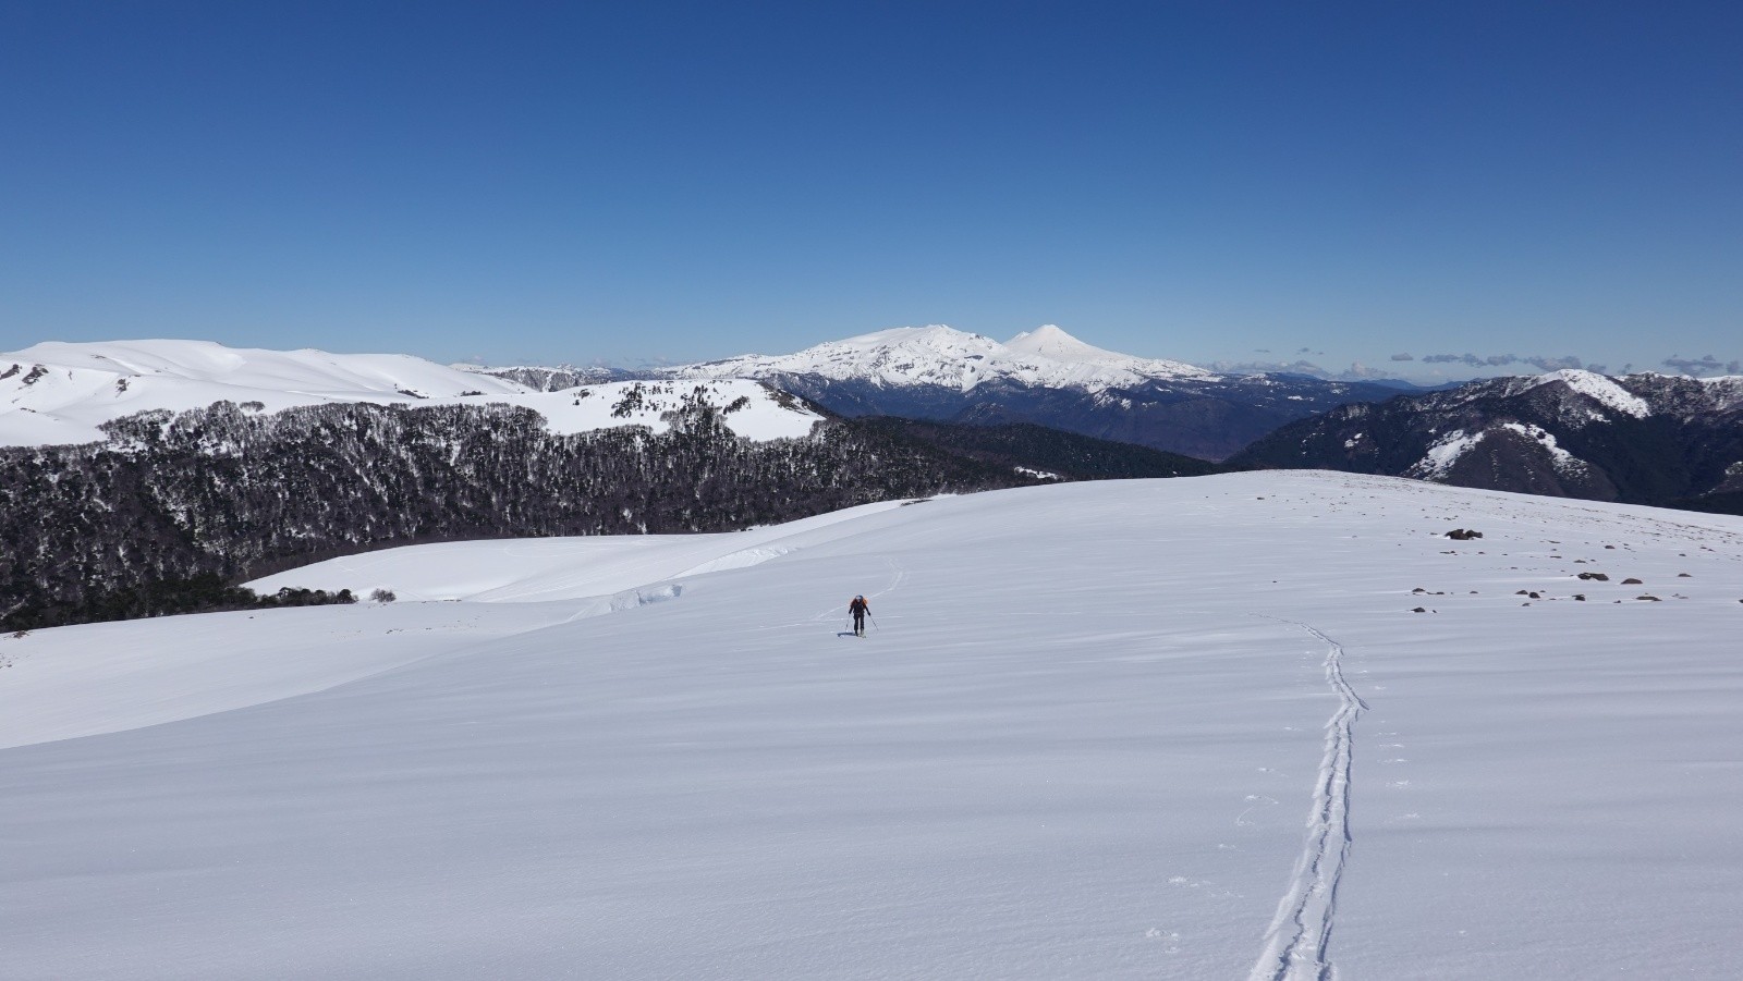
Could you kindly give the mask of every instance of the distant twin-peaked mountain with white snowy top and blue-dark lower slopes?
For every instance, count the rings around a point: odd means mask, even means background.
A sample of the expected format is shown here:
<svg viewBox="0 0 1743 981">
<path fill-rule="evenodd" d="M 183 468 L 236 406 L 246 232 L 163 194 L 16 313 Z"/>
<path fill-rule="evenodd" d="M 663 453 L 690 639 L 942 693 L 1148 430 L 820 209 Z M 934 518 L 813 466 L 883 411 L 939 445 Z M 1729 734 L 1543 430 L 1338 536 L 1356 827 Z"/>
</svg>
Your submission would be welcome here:
<svg viewBox="0 0 1743 981">
<path fill-rule="evenodd" d="M 1007 343 L 945 326 L 899 328 L 798 354 L 664 369 L 763 378 L 842 415 L 1030 422 L 1222 460 L 1272 429 L 1393 387 L 1295 375 L 1217 375 L 1091 347 L 1056 326 Z"/>
</svg>

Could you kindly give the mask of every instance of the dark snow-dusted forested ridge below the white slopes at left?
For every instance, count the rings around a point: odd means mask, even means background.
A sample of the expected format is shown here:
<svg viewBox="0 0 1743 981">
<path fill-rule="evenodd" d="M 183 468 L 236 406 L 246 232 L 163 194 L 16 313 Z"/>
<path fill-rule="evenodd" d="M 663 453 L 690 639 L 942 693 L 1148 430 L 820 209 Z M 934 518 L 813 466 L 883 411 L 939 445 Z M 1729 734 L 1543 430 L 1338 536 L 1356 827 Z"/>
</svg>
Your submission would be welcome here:
<svg viewBox="0 0 1743 981">
<path fill-rule="evenodd" d="M 1039 481 L 875 422 L 755 443 L 722 411 L 695 399 L 662 434 L 556 436 L 500 404 L 216 403 L 115 420 L 105 443 L 0 450 L 0 626 L 138 615 L 125 610 L 150 584 L 234 584 L 375 547 L 727 531 Z"/>
</svg>

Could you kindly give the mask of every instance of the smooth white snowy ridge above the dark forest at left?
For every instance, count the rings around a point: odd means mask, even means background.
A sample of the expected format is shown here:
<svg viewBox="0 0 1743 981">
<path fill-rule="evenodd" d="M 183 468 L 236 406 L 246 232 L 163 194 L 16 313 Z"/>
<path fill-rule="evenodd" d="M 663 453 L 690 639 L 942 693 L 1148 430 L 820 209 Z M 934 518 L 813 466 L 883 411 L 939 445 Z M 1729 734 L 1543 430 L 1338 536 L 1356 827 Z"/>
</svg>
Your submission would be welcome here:
<svg viewBox="0 0 1743 981">
<path fill-rule="evenodd" d="M 546 416 L 553 432 L 650 425 L 692 387 L 643 385 L 647 399 L 614 415 L 633 383 L 540 392 L 511 380 L 403 354 L 230 348 L 211 342 L 40 343 L 0 354 L 0 446 L 94 443 L 105 422 L 146 409 L 195 409 L 216 401 L 279 411 L 321 403 L 507 403 Z M 659 390 L 654 390 L 659 389 Z M 741 436 L 804 436 L 819 416 L 790 409 L 751 382 L 722 380 L 720 406 L 746 397 L 727 425 Z M 256 406 L 258 403 L 258 406 Z"/>
</svg>

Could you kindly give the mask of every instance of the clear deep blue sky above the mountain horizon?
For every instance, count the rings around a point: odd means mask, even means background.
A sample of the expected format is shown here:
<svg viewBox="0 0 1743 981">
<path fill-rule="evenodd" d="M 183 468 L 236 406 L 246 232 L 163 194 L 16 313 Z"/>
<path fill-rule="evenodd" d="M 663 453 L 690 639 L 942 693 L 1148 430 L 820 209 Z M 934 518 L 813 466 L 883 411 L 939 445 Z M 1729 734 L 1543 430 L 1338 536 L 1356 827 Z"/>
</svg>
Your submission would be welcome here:
<svg viewBox="0 0 1743 981">
<path fill-rule="evenodd" d="M 1056 322 L 1199 364 L 1729 362 L 1740 37 L 1736 3 L 0 0 L 0 350 Z"/>
</svg>

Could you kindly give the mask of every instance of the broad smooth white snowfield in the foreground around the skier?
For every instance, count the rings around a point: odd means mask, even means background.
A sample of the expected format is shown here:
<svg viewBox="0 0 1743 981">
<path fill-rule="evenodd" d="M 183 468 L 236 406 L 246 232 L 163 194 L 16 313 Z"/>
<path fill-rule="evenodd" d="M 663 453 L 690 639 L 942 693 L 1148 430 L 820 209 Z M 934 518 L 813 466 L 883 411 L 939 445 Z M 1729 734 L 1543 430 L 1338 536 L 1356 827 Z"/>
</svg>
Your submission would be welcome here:
<svg viewBox="0 0 1743 981">
<path fill-rule="evenodd" d="M 401 599 L 0 638 L 0 978 L 1738 972 L 1740 518 L 1243 472 L 293 578 Z"/>
</svg>

